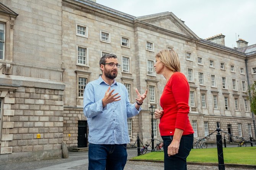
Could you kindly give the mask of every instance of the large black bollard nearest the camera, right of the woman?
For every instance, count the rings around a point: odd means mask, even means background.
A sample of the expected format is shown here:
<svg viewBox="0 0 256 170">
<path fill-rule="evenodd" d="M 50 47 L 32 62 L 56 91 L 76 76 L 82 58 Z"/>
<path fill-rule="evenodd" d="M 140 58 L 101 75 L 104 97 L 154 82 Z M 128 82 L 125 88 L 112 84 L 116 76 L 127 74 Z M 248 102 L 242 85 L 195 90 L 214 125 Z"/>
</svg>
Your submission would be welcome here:
<svg viewBox="0 0 256 170">
<path fill-rule="evenodd" d="M 223 148 L 222 148 L 222 137 L 220 135 L 220 125 L 219 122 L 217 122 L 217 151 L 218 151 L 218 161 L 219 161 L 219 170 L 225 170 L 225 165 L 224 165 L 224 157 L 223 157 Z"/>
</svg>

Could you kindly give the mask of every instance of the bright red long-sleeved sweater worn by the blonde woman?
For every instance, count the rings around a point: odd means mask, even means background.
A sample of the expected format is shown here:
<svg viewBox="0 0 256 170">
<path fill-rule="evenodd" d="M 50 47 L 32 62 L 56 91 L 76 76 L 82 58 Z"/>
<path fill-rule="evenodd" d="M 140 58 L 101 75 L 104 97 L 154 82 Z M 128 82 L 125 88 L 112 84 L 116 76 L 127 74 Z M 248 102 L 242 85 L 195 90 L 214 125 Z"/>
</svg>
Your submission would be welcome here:
<svg viewBox="0 0 256 170">
<path fill-rule="evenodd" d="M 173 136 L 175 128 L 184 130 L 183 135 L 194 133 L 188 120 L 189 94 L 190 86 L 185 75 L 181 72 L 173 73 L 160 98 L 160 106 L 164 110 L 159 124 L 161 136 Z"/>
</svg>

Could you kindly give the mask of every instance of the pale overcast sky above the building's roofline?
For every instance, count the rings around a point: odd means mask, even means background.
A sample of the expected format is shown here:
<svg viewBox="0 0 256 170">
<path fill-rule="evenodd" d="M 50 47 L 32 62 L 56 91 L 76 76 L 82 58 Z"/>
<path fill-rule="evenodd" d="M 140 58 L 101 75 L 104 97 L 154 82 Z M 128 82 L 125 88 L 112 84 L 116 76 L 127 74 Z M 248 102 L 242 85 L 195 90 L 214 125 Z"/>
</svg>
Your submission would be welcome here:
<svg viewBox="0 0 256 170">
<path fill-rule="evenodd" d="M 225 46 L 239 38 L 256 44 L 256 0 L 96 0 L 132 16 L 172 12 L 198 37 L 225 35 Z M 236 36 L 237 35 L 237 36 Z"/>
</svg>

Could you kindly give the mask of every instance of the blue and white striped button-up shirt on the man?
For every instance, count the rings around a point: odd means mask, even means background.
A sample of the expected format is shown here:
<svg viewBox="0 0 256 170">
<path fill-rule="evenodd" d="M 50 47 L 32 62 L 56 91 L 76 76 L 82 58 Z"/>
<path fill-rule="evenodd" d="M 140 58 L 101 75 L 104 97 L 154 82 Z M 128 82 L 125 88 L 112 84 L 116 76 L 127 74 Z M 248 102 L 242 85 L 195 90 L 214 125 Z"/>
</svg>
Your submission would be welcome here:
<svg viewBox="0 0 256 170">
<path fill-rule="evenodd" d="M 89 82 L 84 89 L 84 115 L 89 125 L 89 143 L 94 144 L 125 144 L 130 142 L 127 118 L 139 114 L 135 103 L 130 104 L 128 91 L 122 83 L 114 80 L 110 91 L 119 93 L 121 100 L 102 106 L 102 99 L 109 85 L 102 77 Z"/>
</svg>

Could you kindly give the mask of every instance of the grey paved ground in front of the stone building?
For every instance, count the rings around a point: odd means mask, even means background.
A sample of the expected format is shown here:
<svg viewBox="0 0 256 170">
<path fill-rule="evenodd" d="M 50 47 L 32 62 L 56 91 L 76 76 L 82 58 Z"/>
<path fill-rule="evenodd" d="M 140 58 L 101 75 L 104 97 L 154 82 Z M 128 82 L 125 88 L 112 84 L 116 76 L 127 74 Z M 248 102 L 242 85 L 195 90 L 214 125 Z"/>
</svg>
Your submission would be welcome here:
<svg viewBox="0 0 256 170">
<path fill-rule="evenodd" d="M 128 159 L 137 156 L 137 149 L 128 149 Z M 15 162 L 0 165 L 0 170 L 87 170 L 88 152 L 69 152 L 68 159 Z M 163 170 L 163 163 L 127 161 L 125 170 Z M 217 166 L 188 165 L 188 170 L 218 170 Z M 248 170 L 248 168 L 225 168 L 225 170 Z"/>
</svg>

